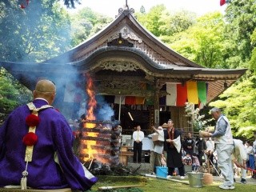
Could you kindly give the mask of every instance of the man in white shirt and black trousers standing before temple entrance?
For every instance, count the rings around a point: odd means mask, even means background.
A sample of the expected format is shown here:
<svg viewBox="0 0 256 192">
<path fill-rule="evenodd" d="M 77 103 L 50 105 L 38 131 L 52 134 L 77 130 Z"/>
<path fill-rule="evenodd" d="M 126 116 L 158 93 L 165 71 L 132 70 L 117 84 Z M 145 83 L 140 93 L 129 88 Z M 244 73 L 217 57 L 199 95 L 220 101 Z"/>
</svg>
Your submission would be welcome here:
<svg viewBox="0 0 256 192">
<path fill-rule="evenodd" d="M 134 139 L 134 163 L 142 162 L 142 139 L 144 138 L 144 132 L 141 131 L 141 126 L 136 126 L 133 134 Z"/>
</svg>

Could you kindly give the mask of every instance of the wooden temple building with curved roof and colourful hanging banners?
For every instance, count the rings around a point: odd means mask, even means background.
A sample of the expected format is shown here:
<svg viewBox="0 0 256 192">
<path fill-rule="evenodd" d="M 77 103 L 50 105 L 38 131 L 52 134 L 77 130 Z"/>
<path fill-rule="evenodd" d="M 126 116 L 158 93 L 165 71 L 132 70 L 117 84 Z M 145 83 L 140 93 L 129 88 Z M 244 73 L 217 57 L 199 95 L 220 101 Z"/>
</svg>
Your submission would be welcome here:
<svg viewBox="0 0 256 192">
<path fill-rule="evenodd" d="M 150 130 L 169 118 L 176 127 L 189 127 L 185 102 L 207 104 L 246 72 L 191 62 L 141 26 L 127 5 L 106 28 L 56 58 L 40 63 L 0 62 L 0 66 L 30 90 L 40 78 L 55 82 L 54 105 L 66 118 L 72 116 L 70 106 L 81 104 L 83 96 L 75 93 L 86 89 L 89 74 L 95 95 L 110 103 L 114 119 L 120 120 L 127 134 L 136 124 Z"/>
</svg>

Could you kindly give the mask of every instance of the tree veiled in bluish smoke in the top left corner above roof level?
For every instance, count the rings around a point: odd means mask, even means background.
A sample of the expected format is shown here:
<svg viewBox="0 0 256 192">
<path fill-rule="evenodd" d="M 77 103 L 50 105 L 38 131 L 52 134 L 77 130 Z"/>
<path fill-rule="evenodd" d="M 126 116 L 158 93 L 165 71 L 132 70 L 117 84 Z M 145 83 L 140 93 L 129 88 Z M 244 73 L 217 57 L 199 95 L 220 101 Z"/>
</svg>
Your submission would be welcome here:
<svg viewBox="0 0 256 192">
<path fill-rule="evenodd" d="M 54 1 L 31 1 L 21 9 L 17 1 L 0 3 L 0 59 L 41 62 L 69 49 L 70 21 Z"/>
</svg>

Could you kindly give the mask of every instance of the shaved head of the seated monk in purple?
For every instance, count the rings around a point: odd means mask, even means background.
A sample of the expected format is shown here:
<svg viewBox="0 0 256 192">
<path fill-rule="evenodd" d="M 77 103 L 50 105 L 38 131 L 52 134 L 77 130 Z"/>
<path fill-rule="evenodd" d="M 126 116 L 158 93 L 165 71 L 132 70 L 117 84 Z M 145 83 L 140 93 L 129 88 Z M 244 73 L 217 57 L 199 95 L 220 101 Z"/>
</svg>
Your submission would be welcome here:
<svg viewBox="0 0 256 192">
<path fill-rule="evenodd" d="M 55 94 L 56 86 L 54 82 L 46 79 L 38 81 L 33 91 L 34 98 L 45 98 L 50 105 L 54 102 Z"/>
</svg>

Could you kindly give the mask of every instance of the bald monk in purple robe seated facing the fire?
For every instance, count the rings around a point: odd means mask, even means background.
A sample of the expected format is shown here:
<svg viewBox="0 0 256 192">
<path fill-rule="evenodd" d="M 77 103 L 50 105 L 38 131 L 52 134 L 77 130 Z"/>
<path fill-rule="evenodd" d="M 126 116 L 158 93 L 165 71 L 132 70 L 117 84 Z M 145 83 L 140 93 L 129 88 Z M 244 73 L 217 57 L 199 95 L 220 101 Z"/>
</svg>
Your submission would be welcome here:
<svg viewBox="0 0 256 192">
<path fill-rule="evenodd" d="M 69 123 L 50 106 L 55 94 L 53 82 L 39 81 L 34 101 L 15 109 L 0 128 L 0 187 L 90 190 L 97 182 L 74 156 Z"/>
</svg>

